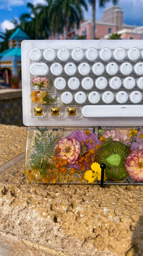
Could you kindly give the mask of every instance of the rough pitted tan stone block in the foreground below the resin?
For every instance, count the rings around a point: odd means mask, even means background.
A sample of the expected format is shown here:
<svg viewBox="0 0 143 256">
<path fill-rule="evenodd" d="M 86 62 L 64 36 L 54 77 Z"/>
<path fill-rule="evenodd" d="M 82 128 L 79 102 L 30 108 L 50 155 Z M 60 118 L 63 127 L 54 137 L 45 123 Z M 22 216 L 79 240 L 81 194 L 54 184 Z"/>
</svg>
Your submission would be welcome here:
<svg viewBox="0 0 143 256">
<path fill-rule="evenodd" d="M 0 174 L 0 231 L 19 239 L 9 255 L 143 256 L 143 186 L 39 185 L 23 173 L 21 161 Z"/>
</svg>

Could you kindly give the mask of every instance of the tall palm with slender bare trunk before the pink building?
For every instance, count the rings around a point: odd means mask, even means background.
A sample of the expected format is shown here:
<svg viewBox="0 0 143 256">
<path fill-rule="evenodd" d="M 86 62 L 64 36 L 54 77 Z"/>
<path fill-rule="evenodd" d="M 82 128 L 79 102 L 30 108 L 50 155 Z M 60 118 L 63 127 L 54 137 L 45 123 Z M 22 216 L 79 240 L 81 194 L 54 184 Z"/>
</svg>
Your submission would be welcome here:
<svg viewBox="0 0 143 256">
<path fill-rule="evenodd" d="M 99 1 L 99 7 L 105 7 L 106 3 L 109 3 L 111 0 L 98 0 Z M 91 33 L 91 39 L 95 38 L 95 7 L 96 7 L 96 0 L 88 0 L 88 3 L 92 5 L 92 33 Z M 118 3 L 118 0 L 112 0 L 112 3 L 115 5 Z"/>
</svg>

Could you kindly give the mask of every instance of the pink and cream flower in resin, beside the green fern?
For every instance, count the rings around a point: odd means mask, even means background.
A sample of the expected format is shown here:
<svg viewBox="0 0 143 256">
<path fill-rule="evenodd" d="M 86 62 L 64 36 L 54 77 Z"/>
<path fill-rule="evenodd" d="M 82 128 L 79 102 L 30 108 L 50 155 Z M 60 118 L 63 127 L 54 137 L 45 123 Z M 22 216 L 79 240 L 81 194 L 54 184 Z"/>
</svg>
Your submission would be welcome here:
<svg viewBox="0 0 143 256">
<path fill-rule="evenodd" d="M 57 157 L 66 159 L 68 163 L 75 163 L 81 152 L 80 143 L 78 140 L 73 137 L 64 138 L 58 141 L 57 146 Z"/>
</svg>

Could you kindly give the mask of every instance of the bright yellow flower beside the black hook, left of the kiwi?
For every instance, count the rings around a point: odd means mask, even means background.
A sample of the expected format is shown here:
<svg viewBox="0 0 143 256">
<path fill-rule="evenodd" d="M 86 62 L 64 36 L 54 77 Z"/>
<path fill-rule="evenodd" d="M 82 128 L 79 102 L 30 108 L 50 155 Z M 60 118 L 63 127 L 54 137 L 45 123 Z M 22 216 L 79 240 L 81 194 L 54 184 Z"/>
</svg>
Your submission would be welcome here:
<svg viewBox="0 0 143 256">
<path fill-rule="evenodd" d="M 84 173 L 84 179 L 88 180 L 88 183 L 92 183 L 95 179 L 101 180 L 101 168 L 100 164 L 93 163 L 91 165 L 91 170 L 88 170 Z M 105 171 L 104 171 L 104 181 L 107 179 Z"/>
</svg>

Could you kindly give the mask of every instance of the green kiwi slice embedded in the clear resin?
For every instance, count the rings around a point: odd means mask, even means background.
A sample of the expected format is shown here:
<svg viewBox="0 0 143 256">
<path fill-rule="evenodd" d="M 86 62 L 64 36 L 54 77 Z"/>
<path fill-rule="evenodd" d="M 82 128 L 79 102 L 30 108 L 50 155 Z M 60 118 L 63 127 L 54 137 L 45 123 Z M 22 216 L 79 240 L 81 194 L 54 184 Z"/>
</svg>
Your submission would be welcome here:
<svg viewBox="0 0 143 256">
<path fill-rule="evenodd" d="M 108 141 L 99 146 L 95 152 L 95 162 L 105 163 L 105 173 L 108 179 L 123 180 L 128 173 L 126 172 L 126 157 L 131 153 L 130 148 L 118 141 Z"/>
</svg>

